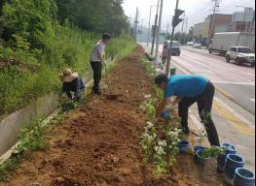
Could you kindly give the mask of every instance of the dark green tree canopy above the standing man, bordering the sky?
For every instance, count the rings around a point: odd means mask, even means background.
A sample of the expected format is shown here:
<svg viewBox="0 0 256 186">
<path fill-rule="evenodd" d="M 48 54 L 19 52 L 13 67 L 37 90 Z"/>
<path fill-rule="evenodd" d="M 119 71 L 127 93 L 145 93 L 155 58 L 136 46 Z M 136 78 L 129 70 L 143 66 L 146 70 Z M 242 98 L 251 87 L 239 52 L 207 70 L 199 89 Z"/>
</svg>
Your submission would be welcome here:
<svg viewBox="0 0 256 186">
<path fill-rule="evenodd" d="M 119 35 L 128 31 L 123 0 L 57 0 L 58 19 L 66 20 L 84 30 Z"/>
</svg>

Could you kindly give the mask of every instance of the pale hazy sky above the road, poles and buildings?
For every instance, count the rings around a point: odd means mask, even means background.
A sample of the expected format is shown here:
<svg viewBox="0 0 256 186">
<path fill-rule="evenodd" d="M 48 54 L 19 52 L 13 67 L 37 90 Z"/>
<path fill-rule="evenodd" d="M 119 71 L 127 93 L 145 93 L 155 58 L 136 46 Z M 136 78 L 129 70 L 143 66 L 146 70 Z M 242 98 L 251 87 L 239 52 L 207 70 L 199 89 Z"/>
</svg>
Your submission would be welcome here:
<svg viewBox="0 0 256 186">
<path fill-rule="evenodd" d="M 124 0 L 124 10 L 131 21 L 134 21 L 136 7 L 139 10 L 139 25 L 148 27 L 150 6 L 157 5 L 158 0 Z M 171 16 L 174 14 L 176 0 L 164 0 L 163 25 L 162 29 L 167 29 L 167 24 L 171 23 Z M 186 11 L 188 16 L 188 28 L 195 23 L 202 22 L 204 18 L 212 13 L 214 3 L 211 0 L 180 0 L 179 9 Z M 232 14 L 242 11 L 243 8 L 238 6 L 246 6 L 255 8 L 254 0 L 221 0 L 219 13 Z M 156 15 L 157 8 L 152 9 L 152 13 Z M 152 17 L 151 22 L 154 21 Z M 182 24 L 177 27 L 181 30 Z"/>
</svg>

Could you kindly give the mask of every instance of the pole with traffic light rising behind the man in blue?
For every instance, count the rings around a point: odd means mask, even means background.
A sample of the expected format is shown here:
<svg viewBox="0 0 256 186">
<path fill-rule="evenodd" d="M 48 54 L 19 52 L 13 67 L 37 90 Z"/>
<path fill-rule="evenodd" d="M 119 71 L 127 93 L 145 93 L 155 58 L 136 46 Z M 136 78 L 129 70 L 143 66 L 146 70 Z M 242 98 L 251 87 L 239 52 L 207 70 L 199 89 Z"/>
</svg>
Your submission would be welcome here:
<svg viewBox="0 0 256 186">
<path fill-rule="evenodd" d="M 172 42 L 174 38 L 174 32 L 175 27 L 181 22 L 182 19 L 179 18 L 180 15 L 184 13 L 184 11 L 181 11 L 178 9 L 179 7 L 179 0 L 176 1 L 176 8 L 175 8 L 175 16 L 173 16 L 172 19 L 172 32 L 170 37 L 170 47 L 168 48 L 168 57 L 167 57 L 167 64 L 165 69 L 165 75 L 169 77 L 169 71 L 170 71 L 170 60 L 171 60 L 171 50 L 172 50 Z"/>
</svg>

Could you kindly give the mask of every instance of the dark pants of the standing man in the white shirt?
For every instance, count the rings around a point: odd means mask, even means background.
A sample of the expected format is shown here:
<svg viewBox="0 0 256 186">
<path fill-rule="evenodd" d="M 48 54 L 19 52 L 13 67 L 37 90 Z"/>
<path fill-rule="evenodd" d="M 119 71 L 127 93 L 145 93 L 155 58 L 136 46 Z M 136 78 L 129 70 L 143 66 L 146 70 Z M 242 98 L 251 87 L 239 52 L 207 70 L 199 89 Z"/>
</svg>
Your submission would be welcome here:
<svg viewBox="0 0 256 186">
<path fill-rule="evenodd" d="M 93 71 L 93 80 L 94 80 L 94 85 L 92 87 L 92 91 L 94 93 L 98 93 L 98 92 L 100 92 L 99 83 L 100 83 L 100 79 L 101 79 L 101 70 L 102 70 L 101 61 L 91 62 L 91 69 Z"/>
</svg>

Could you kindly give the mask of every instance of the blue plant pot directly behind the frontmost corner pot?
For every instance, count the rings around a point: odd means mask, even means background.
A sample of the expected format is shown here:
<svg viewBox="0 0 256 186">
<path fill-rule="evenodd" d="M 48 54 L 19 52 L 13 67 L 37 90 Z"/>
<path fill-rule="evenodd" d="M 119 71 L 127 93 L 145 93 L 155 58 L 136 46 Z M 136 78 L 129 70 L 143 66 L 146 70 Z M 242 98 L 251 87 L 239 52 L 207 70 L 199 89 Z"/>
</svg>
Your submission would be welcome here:
<svg viewBox="0 0 256 186">
<path fill-rule="evenodd" d="M 227 162 L 225 166 L 225 180 L 227 183 L 234 185 L 236 170 L 238 168 L 243 168 L 244 164 L 245 160 L 236 154 L 229 154 L 227 156 Z"/>
</svg>

